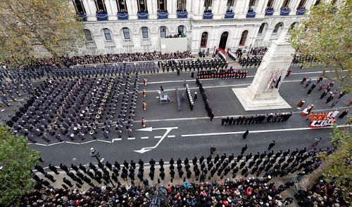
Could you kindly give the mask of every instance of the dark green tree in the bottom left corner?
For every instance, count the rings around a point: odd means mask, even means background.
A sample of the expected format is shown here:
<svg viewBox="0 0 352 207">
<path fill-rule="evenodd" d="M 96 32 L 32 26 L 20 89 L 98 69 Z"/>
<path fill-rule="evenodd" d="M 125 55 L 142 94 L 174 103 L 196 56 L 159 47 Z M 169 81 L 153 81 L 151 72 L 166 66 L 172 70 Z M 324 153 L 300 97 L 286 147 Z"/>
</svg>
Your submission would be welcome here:
<svg viewBox="0 0 352 207">
<path fill-rule="evenodd" d="M 25 138 L 13 135 L 0 124 L 0 206 L 18 201 L 32 190 L 30 169 L 39 159 L 39 152 L 30 149 Z"/>
</svg>

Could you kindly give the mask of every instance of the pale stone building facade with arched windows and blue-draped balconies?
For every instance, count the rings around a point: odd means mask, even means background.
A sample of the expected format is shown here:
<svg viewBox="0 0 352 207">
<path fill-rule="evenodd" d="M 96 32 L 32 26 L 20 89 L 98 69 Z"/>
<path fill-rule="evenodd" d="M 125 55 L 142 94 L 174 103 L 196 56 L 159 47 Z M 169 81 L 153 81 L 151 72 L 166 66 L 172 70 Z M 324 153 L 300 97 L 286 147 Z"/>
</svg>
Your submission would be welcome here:
<svg viewBox="0 0 352 207">
<path fill-rule="evenodd" d="M 320 1 L 339 0 L 72 0 L 85 22 L 81 55 L 161 51 L 170 35 L 194 53 L 269 46 Z"/>
</svg>

